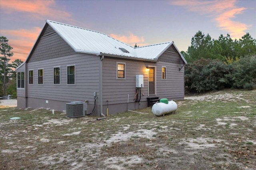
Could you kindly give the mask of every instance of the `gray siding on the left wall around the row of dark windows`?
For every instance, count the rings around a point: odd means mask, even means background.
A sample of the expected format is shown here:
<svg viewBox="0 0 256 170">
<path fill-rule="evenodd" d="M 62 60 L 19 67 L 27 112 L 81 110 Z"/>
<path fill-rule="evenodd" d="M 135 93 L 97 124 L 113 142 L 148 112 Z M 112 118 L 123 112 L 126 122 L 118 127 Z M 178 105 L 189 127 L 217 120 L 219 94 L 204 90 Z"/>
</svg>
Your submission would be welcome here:
<svg viewBox="0 0 256 170">
<path fill-rule="evenodd" d="M 76 83 L 75 85 L 67 85 L 67 65 L 72 64 L 75 64 Z M 60 85 L 54 84 L 54 66 L 60 66 Z M 44 69 L 43 84 L 38 84 L 38 68 Z M 93 105 L 93 92 L 97 92 L 97 95 L 99 95 L 98 56 L 78 53 L 60 58 L 29 62 L 28 69 L 34 69 L 34 84 L 28 84 L 28 80 L 26 80 L 28 98 L 43 100 L 44 104 L 46 103 L 45 100 L 60 102 L 88 100 L 88 104 Z M 32 100 L 28 100 L 28 107 L 32 107 L 32 102 Z M 63 103 L 62 110 L 65 110 L 65 108 L 66 105 Z"/>
</svg>

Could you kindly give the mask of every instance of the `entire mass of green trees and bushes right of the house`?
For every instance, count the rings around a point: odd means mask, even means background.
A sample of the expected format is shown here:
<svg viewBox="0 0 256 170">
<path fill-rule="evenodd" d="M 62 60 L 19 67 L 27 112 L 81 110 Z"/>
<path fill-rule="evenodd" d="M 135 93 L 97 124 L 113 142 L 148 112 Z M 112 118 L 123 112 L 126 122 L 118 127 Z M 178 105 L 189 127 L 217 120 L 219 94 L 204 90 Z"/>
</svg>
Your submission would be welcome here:
<svg viewBox="0 0 256 170">
<path fill-rule="evenodd" d="M 184 73 L 187 92 L 256 87 L 256 39 L 249 33 L 232 40 L 229 34 L 212 39 L 198 31 L 188 51 L 181 53 L 188 62 Z"/>
</svg>

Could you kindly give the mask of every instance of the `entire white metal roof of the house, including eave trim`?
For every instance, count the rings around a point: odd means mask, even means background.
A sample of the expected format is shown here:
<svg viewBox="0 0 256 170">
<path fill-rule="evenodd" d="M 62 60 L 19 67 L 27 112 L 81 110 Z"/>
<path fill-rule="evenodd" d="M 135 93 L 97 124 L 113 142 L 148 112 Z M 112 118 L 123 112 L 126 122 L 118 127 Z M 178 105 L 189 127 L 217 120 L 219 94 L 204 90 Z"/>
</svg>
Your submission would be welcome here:
<svg viewBox="0 0 256 170">
<path fill-rule="evenodd" d="M 118 41 L 104 33 L 93 31 L 90 29 L 84 29 L 81 27 L 76 27 L 56 21 L 46 20 L 46 24 L 50 25 L 54 31 L 78 53 L 88 53 L 94 55 L 108 55 L 111 57 L 122 57 L 128 59 L 137 59 L 137 60 L 147 60 L 147 61 L 157 61 L 158 57 L 168 49 L 171 45 L 174 45 L 178 53 L 180 54 L 184 63 L 187 63 L 176 45 L 173 41 L 147 45 L 142 47 L 132 47 L 126 43 Z M 43 27 L 43 29 L 44 29 Z M 40 35 L 42 34 L 41 30 L 36 42 L 34 43 L 30 53 L 35 48 Z M 120 50 L 119 48 L 126 49 L 129 53 Z M 30 53 L 26 61 L 28 60 Z M 25 61 L 25 62 L 26 62 Z M 24 63 L 25 63 L 24 62 Z M 22 63 L 22 65 L 24 64 Z M 20 65 L 20 66 L 22 66 Z M 20 66 L 18 68 L 20 68 Z M 16 70 L 18 69 L 16 68 Z"/>
</svg>

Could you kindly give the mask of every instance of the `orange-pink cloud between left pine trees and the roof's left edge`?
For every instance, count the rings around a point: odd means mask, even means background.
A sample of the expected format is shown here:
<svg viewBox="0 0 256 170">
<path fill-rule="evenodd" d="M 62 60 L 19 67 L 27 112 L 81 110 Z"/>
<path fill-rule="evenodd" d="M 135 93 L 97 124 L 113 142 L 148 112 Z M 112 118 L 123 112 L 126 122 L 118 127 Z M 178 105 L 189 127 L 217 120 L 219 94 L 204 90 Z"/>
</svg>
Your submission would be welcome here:
<svg viewBox="0 0 256 170">
<path fill-rule="evenodd" d="M 11 61 L 15 59 L 26 60 L 40 31 L 41 28 L 39 27 L 34 27 L 31 30 L 1 30 L 1 33 L 9 40 L 8 44 L 13 47 L 12 52 L 14 55 L 11 57 Z"/>
</svg>

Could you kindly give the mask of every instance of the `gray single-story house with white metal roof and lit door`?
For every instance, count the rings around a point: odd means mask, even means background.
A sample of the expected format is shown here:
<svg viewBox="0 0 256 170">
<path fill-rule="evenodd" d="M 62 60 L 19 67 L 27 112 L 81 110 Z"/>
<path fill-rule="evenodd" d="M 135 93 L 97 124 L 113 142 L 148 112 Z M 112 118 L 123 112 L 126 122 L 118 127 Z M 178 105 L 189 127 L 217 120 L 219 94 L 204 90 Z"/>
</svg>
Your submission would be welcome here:
<svg viewBox="0 0 256 170">
<path fill-rule="evenodd" d="M 184 99 L 184 64 L 173 41 L 132 47 L 104 33 L 46 20 L 17 72 L 18 108 L 66 110 L 87 102 L 100 116 Z M 137 80 L 137 81 L 136 81 Z"/>
</svg>

